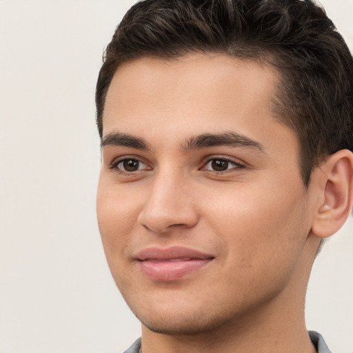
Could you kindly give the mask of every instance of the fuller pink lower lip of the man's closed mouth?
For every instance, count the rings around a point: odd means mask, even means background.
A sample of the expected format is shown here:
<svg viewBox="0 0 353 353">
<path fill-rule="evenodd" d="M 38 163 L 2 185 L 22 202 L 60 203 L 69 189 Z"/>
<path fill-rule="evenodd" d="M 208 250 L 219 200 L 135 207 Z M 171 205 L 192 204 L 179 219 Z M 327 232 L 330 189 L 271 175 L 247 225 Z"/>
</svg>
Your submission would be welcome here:
<svg viewBox="0 0 353 353">
<path fill-rule="evenodd" d="M 212 259 L 192 259 L 188 261 L 140 261 L 143 274 L 154 281 L 175 281 L 203 268 Z"/>
</svg>

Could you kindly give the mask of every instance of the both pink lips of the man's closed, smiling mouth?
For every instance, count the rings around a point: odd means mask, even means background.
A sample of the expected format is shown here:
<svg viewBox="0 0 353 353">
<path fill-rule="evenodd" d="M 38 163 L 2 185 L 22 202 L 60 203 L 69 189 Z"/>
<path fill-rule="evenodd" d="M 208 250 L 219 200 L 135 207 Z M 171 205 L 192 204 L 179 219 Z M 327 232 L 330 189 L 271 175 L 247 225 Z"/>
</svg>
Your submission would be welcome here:
<svg viewBox="0 0 353 353">
<path fill-rule="evenodd" d="M 146 248 L 137 254 L 145 276 L 153 281 L 175 281 L 208 265 L 214 256 L 183 247 Z"/>
</svg>

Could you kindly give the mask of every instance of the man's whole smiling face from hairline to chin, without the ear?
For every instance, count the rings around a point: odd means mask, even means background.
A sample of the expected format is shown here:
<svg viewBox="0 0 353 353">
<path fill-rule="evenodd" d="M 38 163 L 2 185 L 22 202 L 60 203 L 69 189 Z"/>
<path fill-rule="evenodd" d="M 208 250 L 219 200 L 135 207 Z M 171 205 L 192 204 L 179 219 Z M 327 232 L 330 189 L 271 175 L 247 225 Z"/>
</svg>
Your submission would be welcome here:
<svg viewBox="0 0 353 353">
<path fill-rule="evenodd" d="M 270 68 L 223 56 L 115 73 L 97 214 L 112 276 L 148 329 L 241 323 L 294 281 L 310 198 L 275 88 Z"/>
</svg>

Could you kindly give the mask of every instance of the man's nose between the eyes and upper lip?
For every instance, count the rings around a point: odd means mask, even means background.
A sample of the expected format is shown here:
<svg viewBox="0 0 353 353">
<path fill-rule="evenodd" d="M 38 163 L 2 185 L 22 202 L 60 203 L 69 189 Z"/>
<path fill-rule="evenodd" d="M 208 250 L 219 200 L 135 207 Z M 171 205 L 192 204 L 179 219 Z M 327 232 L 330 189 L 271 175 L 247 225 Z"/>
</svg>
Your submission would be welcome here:
<svg viewBox="0 0 353 353">
<path fill-rule="evenodd" d="M 199 221 L 191 185 L 180 175 L 160 173 L 152 181 L 152 188 L 137 221 L 144 228 L 159 234 L 174 228 L 192 228 Z"/>
</svg>

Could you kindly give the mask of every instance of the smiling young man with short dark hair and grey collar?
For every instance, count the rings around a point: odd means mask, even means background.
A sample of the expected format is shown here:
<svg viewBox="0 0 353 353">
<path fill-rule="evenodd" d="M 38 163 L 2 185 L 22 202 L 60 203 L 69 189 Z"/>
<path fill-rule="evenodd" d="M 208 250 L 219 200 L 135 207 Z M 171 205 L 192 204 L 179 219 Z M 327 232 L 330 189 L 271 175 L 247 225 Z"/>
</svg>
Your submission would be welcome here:
<svg viewBox="0 0 353 353">
<path fill-rule="evenodd" d="M 353 203 L 353 60 L 300 0 L 146 0 L 97 83 L 99 229 L 127 352 L 330 352 L 305 327 Z"/>
</svg>

